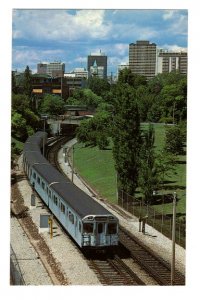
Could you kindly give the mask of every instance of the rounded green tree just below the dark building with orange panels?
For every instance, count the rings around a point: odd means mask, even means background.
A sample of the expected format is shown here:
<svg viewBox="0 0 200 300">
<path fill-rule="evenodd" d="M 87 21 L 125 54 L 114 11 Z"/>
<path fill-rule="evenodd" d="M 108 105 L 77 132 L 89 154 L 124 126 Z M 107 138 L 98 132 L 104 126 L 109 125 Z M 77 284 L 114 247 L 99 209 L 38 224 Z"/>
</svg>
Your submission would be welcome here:
<svg viewBox="0 0 200 300">
<path fill-rule="evenodd" d="M 64 112 L 65 102 L 56 95 L 46 94 L 41 101 L 39 111 L 43 114 L 59 115 Z"/>
</svg>

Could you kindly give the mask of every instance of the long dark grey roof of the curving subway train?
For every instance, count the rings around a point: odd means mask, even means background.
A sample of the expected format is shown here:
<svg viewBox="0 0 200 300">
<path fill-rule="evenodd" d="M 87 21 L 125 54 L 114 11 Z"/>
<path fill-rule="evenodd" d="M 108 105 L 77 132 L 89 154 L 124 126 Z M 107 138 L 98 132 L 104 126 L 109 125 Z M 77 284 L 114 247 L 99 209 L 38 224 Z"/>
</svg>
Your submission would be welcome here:
<svg viewBox="0 0 200 300">
<path fill-rule="evenodd" d="M 40 143 L 44 137 L 44 132 L 38 132 L 33 137 L 29 137 L 24 146 L 24 155 L 30 165 L 38 174 L 51 185 L 60 198 L 80 216 L 87 215 L 110 215 L 111 213 L 92 199 L 89 195 L 67 180 L 58 170 L 56 170 L 40 152 Z"/>
</svg>

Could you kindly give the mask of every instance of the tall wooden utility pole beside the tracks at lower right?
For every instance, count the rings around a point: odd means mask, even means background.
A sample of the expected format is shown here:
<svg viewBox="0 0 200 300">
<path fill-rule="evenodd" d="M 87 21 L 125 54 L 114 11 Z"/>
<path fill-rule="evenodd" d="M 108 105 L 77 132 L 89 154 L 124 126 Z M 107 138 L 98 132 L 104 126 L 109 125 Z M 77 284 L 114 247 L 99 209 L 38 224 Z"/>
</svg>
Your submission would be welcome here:
<svg viewBox="0 0 200 300">
<path fill-rule="evenodd" d="M 174 197 L 173 197 L 171 285 L 174 285 L 174 275 L 175 275 L 175 245 L 176 245 L 175 242 L 176 242 L 176 192 L 174 192 Z"/>
</svg>

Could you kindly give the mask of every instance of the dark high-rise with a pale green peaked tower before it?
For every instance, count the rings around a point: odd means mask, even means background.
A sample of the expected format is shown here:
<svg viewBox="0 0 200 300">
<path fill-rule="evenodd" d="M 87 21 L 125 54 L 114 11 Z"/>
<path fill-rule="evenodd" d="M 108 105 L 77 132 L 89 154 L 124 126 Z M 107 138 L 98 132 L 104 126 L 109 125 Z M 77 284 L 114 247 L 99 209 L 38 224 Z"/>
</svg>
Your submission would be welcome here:
<svg viewBox="0 0 200 300">
<path fill-rule="evenodd" d="M 102 53 L 91 53 L 87 62 L 88 76 L 107 78 L 107 56 Z"/>
</svg>

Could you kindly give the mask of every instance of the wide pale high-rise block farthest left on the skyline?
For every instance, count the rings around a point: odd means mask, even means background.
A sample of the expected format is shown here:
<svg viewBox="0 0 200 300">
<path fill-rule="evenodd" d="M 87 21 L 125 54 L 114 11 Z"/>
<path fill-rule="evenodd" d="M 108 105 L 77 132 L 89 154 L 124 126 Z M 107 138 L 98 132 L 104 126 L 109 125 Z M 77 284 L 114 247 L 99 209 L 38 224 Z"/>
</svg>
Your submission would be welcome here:
<svg viewBox="0 0 200 300">
<path fill-rule="evenodd" d="M 42 62 L 37 64 L 38 74 L 47 74 L 52 77 L 63 77 L 65 73 L 65 64 L 61 62 Z"/>
</svg>

